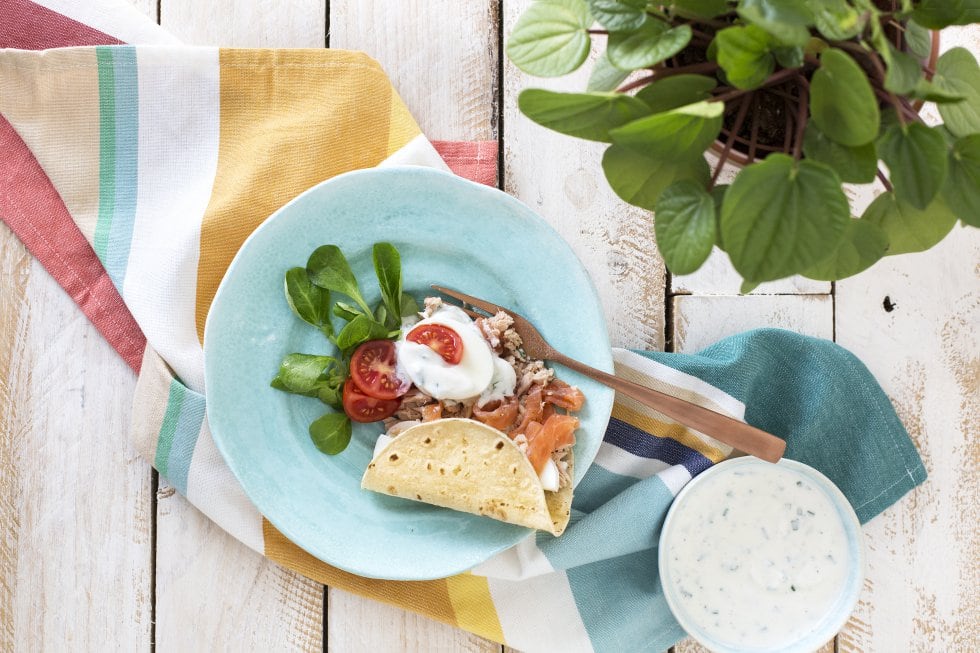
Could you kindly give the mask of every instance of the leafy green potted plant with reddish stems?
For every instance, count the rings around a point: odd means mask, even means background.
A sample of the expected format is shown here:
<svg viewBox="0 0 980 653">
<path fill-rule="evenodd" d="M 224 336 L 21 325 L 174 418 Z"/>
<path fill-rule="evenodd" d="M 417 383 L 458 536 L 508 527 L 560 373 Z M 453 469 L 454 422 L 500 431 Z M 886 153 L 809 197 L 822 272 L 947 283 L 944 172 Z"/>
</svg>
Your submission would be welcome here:
<svg viewBox="0 0 980 653">
<path fill-rule="evenodd" d="M 930 32 L 977 21 L 967 0 L 538 0 L 506 51 L 560 76 L 604 40 L 585 92 L 525 89 L 521 111 L 610 144 L 609 185 L 655 212 L 672 273 L 717 245 L 748 292 L 980 226 L 980 68 L 964 48 L 936 59 Z M 924 101 L 942 125 L 922 122 Z M 742 167 L 718 184 L 728 162 Z M 884 192 L 852 218 L 842 184 L 876 178 Z"/>
</svg>

